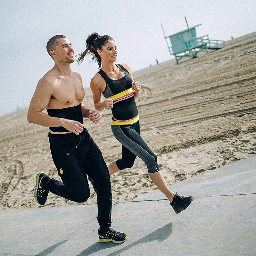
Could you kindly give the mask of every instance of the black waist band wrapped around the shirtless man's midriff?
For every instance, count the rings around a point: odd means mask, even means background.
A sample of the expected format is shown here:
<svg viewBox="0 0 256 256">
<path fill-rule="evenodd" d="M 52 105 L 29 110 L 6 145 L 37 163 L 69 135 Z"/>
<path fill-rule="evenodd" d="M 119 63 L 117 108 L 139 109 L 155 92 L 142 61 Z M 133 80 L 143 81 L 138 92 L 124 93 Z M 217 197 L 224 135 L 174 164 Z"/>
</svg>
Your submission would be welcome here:
<svg viewBox="0 0 256 256">
<path fill-rule="evenodd" d="M 74 120 L 74 121 L 78 121 L 81 124 L 84 123 L 81 104 L 74 107 L 69 107 L 69 108 L 60 108 L 60 109 L 46 108 L 46 110 L 49 116 Z M 53 132 L 69 132 L 69 130 L 67 130 L 63 126 L 49 127 L 49 129 Z"/>
</svg>

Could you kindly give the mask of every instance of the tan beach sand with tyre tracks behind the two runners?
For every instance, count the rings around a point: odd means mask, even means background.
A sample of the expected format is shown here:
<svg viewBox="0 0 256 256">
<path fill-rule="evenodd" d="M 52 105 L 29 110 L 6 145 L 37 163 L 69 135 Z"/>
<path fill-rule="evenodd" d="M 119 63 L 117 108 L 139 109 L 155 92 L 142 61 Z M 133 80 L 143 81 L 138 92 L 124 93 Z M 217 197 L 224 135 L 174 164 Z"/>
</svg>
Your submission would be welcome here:
<svg viewBox="0 0 256 256">
<path fill-rule="evenodd" d="M 256 33 L 252 33 L 178 65 L 170 60 L 134 72 L 142 85 L 136 99 L 141 135 L 156 153 L 168 185 L 256 154 L 255 59 Z M 93 108 L 90 89 L 85 92 L 83 102 Z M 48 128 L 29 124 L 26 115 L 23 109 L 1 116 L 0 209 L 80 204 L 51 193 L 44 206 L 36 203 L 37 172 L 59 177 Z M 111 133 L 111 111 L 101 111 L 100 124 L 84 122 L 106 163 L 120 158 L 121 145 Z M 112 175 L 111 183 L 113 203 L 157 189 L 139 158 L 131 169 Z M 91 189 L 83 204 L 95 203 Z"/>
</svg>

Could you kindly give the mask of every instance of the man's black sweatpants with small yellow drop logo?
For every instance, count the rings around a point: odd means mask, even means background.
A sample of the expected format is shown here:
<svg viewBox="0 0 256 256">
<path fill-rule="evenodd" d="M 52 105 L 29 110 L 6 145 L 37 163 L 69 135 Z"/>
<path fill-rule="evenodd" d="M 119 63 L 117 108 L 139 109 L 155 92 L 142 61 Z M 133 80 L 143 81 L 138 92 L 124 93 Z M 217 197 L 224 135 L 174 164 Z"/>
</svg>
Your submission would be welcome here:
<svg viewBox="0 0 256 256">
<path fill-rule="evenodd" d="M 109 171 L 99 147 L 86 128 L 79 135 L 49 133 L 49 142 L 62 182 L 47 177 L 43 187 L 65 199 L 85 202 L 90 197 L 88 175 L 97 190 L 98 222 L 104 232 L 111 226 L 112 194 Z"/>
</svg>

